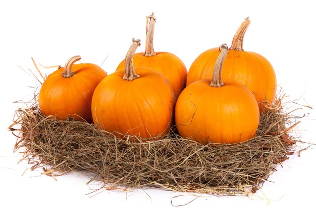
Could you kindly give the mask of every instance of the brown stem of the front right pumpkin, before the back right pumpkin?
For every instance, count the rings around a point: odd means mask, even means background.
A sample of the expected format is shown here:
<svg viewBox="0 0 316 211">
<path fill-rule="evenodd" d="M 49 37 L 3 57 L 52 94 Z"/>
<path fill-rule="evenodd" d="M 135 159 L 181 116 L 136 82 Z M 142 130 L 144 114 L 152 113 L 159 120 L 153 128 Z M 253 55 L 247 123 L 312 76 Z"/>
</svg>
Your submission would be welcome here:
<svg viewBox="0 0 316 211">
<path fill-rule="evenodd" d="M 222 81 L 222 68 L 223 68 L 223 63 L 228 53 L 227 44 L 223 44 L 222 46 L 220 46 L 220 49 L 222 50 L 219 57 L 216 60 L 213 75 L 212 75 L 212 81 L 210 82 L 210 86 L 212 87 L 224 86 L 224 83 Z"/>
</svg>

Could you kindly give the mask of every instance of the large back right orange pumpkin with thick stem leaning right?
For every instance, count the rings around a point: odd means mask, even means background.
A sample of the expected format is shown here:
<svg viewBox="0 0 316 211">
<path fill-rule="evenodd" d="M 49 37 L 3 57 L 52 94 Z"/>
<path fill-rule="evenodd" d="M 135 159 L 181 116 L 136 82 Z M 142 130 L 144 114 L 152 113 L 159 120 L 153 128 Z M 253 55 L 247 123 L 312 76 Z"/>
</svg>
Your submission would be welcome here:
<svg viewBox="0 0 316 211">
<path fill-rule="evenodd" d="M 247 86 L 262 111 L 266 103 L 275 99 L 277 80 L 273 66 L 264 56 L 243 50 L 243 37 L 249 24 L 250 20 L 246 18 L 237 30 L 223 66 L 222 77 Z M 211 78 L 219 54 L 218 48 L 201 53 L 190 66 L 187 86 L 196 80 Z"/>
</svg>

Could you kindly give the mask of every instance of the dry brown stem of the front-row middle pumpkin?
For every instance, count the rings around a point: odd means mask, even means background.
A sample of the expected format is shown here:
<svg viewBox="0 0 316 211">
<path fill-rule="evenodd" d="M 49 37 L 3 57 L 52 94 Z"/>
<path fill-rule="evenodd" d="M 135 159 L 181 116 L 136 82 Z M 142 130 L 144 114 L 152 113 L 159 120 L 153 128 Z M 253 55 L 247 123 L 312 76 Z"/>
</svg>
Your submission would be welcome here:
<svg viewBox="0 0 316 211">
<path fill-rule="evenodd" d="M 132 39 L 133 44 L 128 49 L 128 52 L 125 57 L 125 74 L 123 76 L 124 80 L 134 80 L 139 77 L 139 75 L 136 74 L 134 66 L 133 66 L 133 57 L 135 54 L 135 51 L 138 46 L 140 46 L 140 40 L 139 39 Z"/>
</svg>

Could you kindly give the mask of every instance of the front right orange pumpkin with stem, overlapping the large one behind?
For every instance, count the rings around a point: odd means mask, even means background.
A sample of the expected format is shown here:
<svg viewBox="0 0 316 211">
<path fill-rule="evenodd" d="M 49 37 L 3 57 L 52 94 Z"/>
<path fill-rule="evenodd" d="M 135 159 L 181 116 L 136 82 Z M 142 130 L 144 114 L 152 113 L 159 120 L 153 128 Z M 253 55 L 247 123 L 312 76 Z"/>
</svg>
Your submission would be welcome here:
<svg viewBox="0 0 316 211">
<path fill-rule="evenodd" d="M 259 124 L 259 108 L 249 89 L 234 80 L 222 81 L 228 47 L 224 44 L 221 48 L 212 79 L 187 86 L 175 107 L 179 135 L 202 144 L 251 139 Z"/>
</svg>

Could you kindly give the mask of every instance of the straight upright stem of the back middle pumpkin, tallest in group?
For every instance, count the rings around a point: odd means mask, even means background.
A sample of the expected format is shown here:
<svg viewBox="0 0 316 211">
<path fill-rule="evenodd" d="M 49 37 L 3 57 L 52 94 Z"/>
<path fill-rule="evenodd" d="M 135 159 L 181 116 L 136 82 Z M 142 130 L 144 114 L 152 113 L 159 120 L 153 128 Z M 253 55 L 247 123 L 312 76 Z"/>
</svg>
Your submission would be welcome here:
<svg viewBox="0 0 316 211">
<path fill-rule="evenodd" d="M 146 17 L 146 44 L 144 56 L 154 56 L 156 52 L 153 50 L 153 32 L 156 17 L 153 13 Z"/>
</svg>

